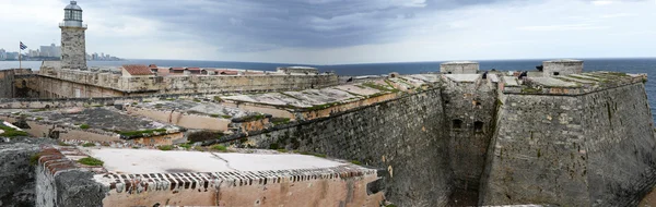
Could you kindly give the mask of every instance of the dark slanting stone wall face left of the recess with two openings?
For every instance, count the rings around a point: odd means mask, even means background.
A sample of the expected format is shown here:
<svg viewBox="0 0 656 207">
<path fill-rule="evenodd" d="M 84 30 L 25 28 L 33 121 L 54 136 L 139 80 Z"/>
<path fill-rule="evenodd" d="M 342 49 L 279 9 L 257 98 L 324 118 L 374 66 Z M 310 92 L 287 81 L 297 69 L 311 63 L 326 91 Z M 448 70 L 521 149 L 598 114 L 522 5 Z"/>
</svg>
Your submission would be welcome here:
<svg viewBox="0 0 656 207">
<path fill-rule="evenodd" d="M 442 136 L 440 89 L 403 96 L 330 118 L 249 137 L 260 148 L 288 148 L 358 160 L 386 171 L 386 198 L 398 206 L 447 206 L 453 172 Z"/>
</svg>

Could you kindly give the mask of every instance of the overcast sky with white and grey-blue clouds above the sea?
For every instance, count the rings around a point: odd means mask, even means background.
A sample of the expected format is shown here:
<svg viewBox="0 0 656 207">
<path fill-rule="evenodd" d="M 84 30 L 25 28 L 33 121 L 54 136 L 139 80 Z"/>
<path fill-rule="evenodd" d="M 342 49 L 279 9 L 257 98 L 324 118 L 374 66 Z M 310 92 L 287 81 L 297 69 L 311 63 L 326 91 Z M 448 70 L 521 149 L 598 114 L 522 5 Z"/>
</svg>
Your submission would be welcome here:
<svg viewBox="0 0 656 207">
<path fill-rule="evenodd" d="M 60 41 L 62 0 L 0 0 L 0 48 Z M 86 51 L 339 64 L 656 57 L 656 0 L 79 0 Z"/>
</svg>

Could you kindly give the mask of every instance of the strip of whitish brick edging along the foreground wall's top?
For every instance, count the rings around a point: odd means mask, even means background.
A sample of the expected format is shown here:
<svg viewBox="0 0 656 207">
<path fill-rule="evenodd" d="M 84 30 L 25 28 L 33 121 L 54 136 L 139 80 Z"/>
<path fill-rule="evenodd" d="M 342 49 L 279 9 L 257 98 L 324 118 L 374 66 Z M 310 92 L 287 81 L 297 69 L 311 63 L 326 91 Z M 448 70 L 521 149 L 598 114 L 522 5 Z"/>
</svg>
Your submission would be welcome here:
<svg viewBox="0 0 656 207">
<path fill-rule="evenodd" d="M 116 193 L 139 194 L 152 191 L 197 190 L 207 192 L 220 187 L 267 185 L 311 180 L 343 180 L 376 175 L 377 170 L 363 167 L 336 167 L 276 171 L 227 171 L 192 173 L 96 174 L 95 180 Z"/>
</svg>

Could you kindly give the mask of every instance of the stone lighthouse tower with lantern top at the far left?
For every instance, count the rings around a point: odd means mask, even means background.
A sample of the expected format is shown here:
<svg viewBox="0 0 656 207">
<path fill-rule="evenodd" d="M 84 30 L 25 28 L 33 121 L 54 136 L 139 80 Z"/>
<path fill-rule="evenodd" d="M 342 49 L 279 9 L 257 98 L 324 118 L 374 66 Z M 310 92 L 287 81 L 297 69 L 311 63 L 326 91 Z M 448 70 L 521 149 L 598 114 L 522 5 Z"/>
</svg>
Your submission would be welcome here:
<svg viewBox="0 0 656 207">
<path fill-rule="evenodd" d="M 86 70 L 86 44 L 82 24 L 82 8 L 77 1 L 71 1 L 63 9 L 61 28 L 61 69 Z"/>
</svg>

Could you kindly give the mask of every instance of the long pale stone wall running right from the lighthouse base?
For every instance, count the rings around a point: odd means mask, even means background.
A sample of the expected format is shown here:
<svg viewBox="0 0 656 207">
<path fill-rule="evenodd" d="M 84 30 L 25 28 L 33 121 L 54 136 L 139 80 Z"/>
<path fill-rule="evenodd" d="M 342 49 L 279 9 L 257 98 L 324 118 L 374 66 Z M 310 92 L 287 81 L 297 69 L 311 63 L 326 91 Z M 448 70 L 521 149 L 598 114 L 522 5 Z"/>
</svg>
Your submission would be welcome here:
<svg viewBox="0 0 656 207">
<path fill-rule="evenodd" d="M 38 98 L 277 92 L 338 84 L 335 74 L 121 76 L 112 72 L 62 70 L 59 62 L 52 61 L 45 61 L 34 78 L 36 85 L 31 88 L 36 88 Z"/>
</svg>

